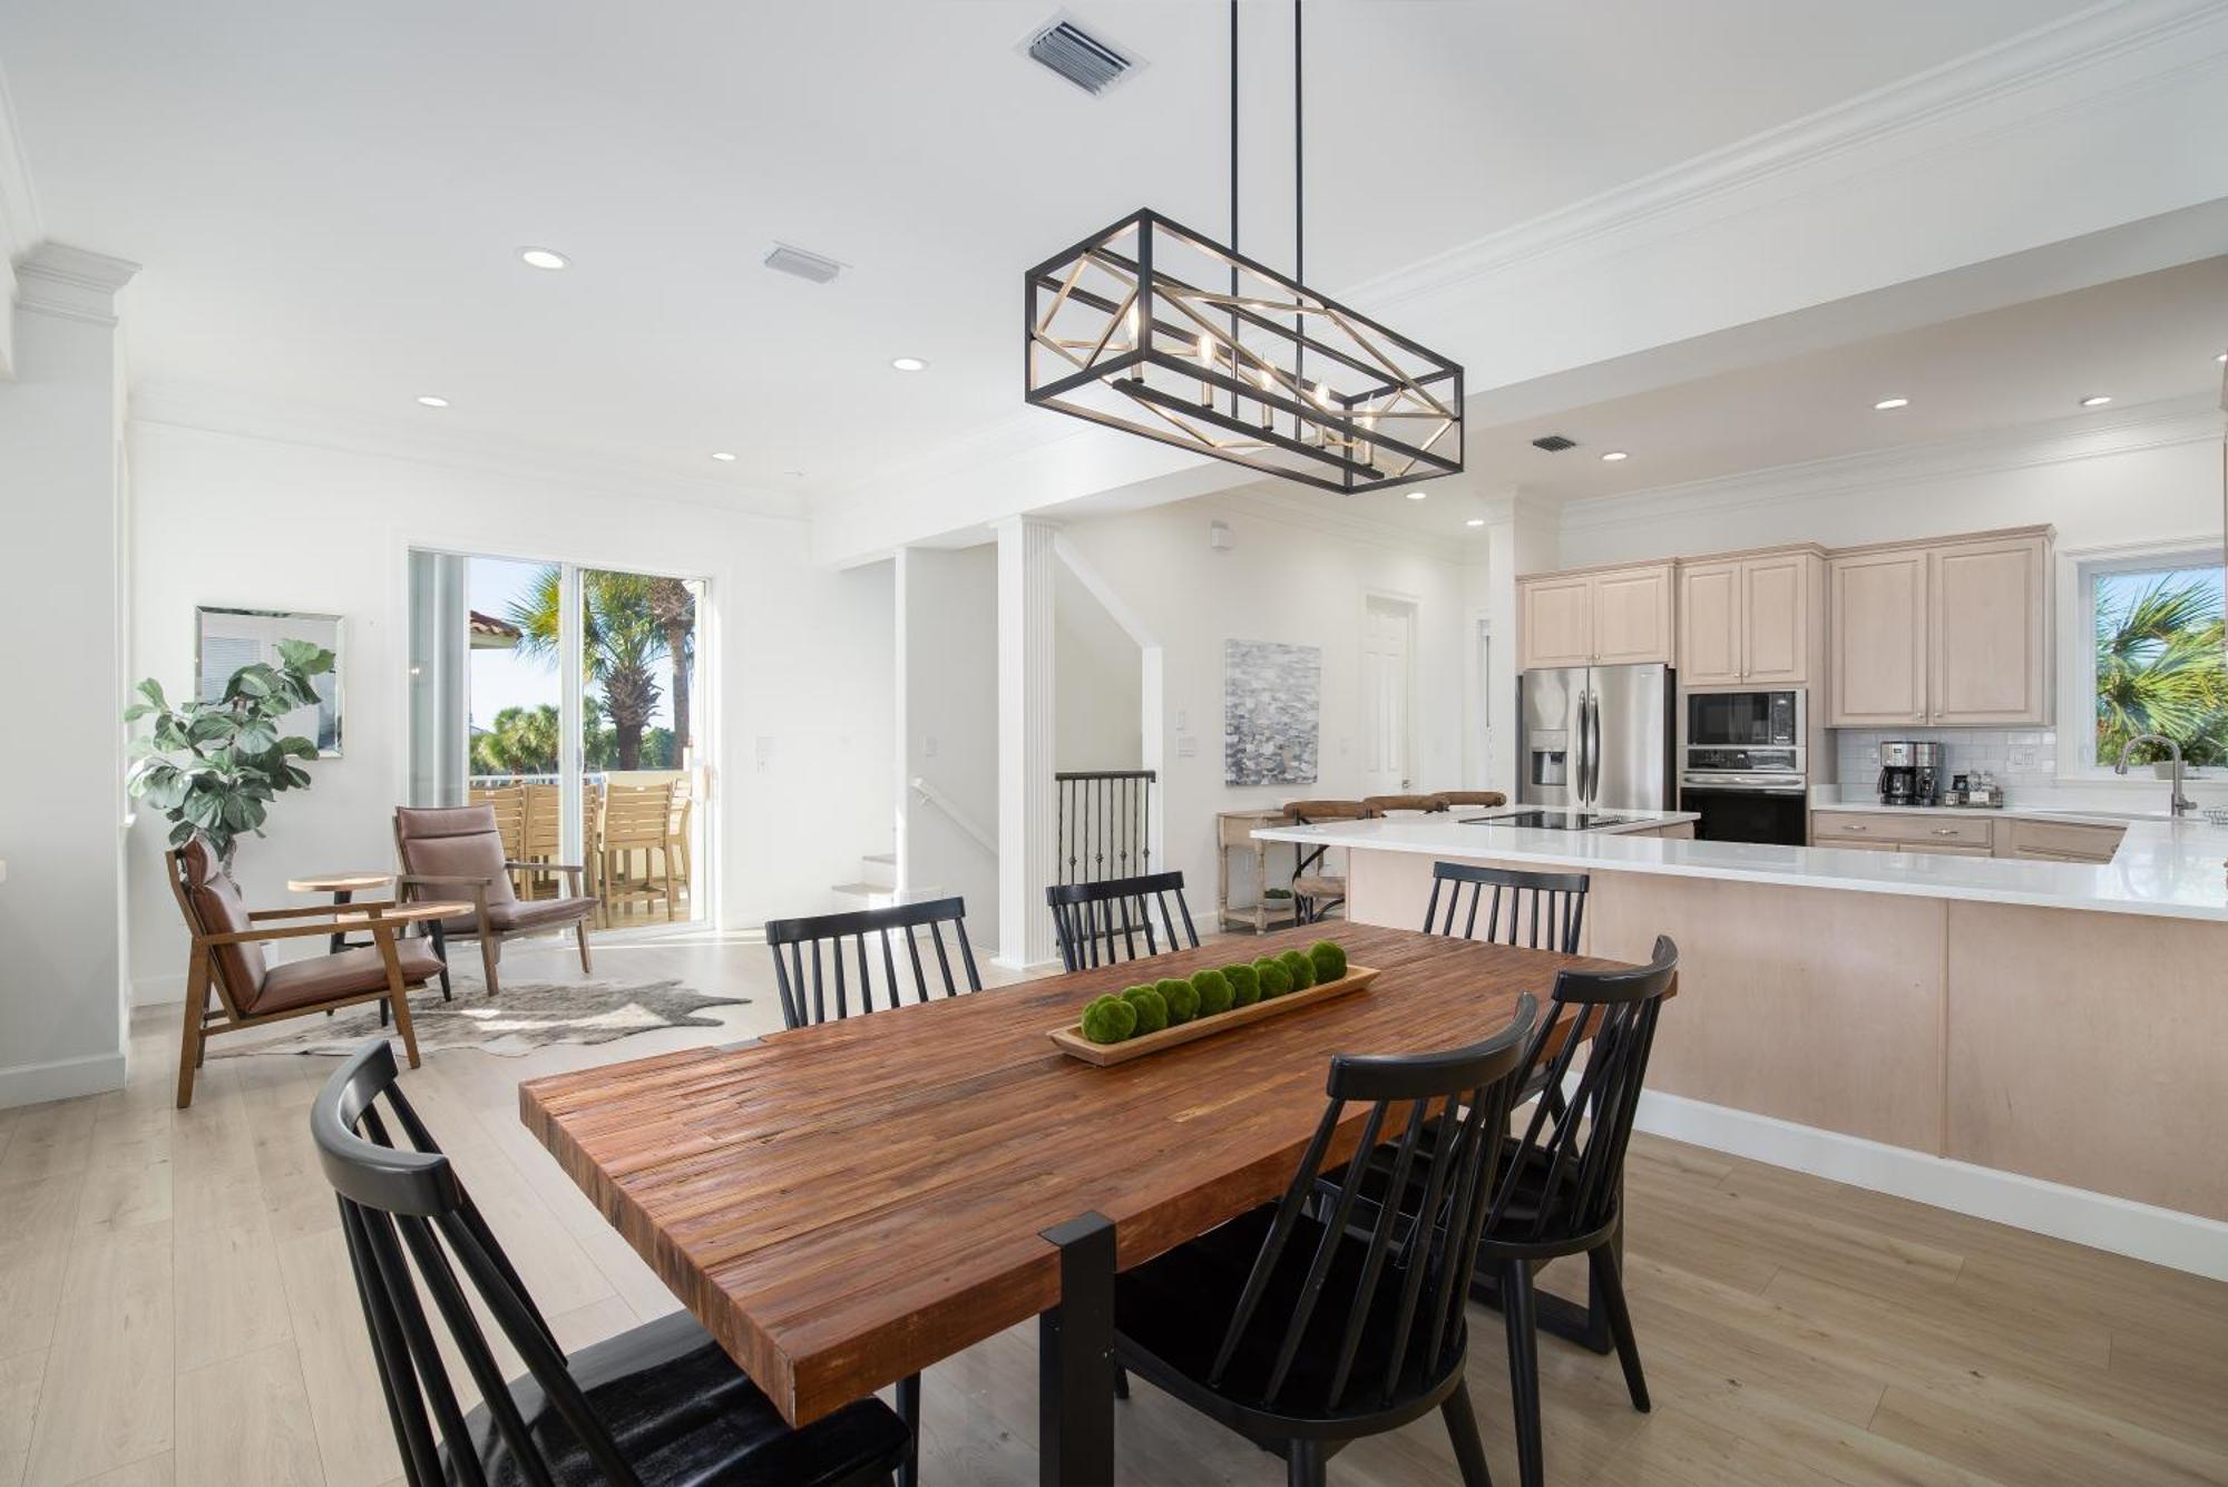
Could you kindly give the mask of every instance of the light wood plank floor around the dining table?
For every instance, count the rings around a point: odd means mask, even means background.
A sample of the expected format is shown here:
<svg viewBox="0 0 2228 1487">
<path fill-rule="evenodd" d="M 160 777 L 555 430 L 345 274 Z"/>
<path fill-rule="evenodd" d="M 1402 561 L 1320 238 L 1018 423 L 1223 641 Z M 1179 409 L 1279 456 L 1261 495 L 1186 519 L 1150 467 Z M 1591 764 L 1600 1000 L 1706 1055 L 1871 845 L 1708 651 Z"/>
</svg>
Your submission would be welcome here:
<svg viewBox="0 0 2228 1487">
<path fill-rule="evenodd" d="M 515 944 L 506 973 L 577 975 Z M 673 1300 L 517 1122 L 521 1077 L 780 1024 L 762 946 L 604 939 L 606 977 L 751 995 L 720 1031 L 524 1060 L 434 1053 L 408 1089 L 568 1347 Z M 1675 1008 L 1673 1013 L 1675 1015 Z M 330 1060 L 209 1060 L 172 1111 L 174 1011 L 131 1086 L 0 1111 L 0 1487 L 383 1487 L 392 1436 L 305 1131 Z M 2228 1287 L 1693 1146 L 1635 1138 L 1629 1289 L 1655 1414 L 1542 1340 L 1551 1483 L 2228 1483 Z M 1551 1284 L 1553 1280 L 1551 1271 Z M 1499 1318 L 1470 1389 L 1515 1480 Z M 929 1371 L 925 1480 L 1036 1480 L 1034 1329 Z M 1172 1400 L 1121 1407 L 1125 1483 L 1281 1483 Z M 1437 1420 L 1341 1454 L 1352 1487 L 1453 1483 Z"/>
</svg>

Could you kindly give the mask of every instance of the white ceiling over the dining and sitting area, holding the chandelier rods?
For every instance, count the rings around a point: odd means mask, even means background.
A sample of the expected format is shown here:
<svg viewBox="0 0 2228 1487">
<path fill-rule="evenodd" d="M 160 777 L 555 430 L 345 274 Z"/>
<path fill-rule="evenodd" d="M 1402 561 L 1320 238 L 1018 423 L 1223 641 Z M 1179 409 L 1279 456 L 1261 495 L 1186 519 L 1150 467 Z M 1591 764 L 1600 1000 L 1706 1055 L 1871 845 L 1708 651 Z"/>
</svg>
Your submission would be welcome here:
<svg viewBox="0 0 2228 1487">
<path fill-rule="evenodd" d="M 1308 278 L 1339 292 L 2083 2 L 1315 0 Z M 1027 263 L 1139 205 L 1225 227 L 1223 7 L 1072 0 L 1150 62 L 1101 100 L 1016 56 L 1054 9 L 7 0 L 0 69 L 47 234 L 145 265 L 136 376 L 811 494 L 1016 412 Z M 1281 263 L 1290 9 L 1248 0 L 1245 33 L 1243 245 Z M 775 238 L 851 269 L 775 276 Z M 1720 459 L 1667 463 L 1680 407 L 1566 432 L 1660 483 Z"/>
</svg>

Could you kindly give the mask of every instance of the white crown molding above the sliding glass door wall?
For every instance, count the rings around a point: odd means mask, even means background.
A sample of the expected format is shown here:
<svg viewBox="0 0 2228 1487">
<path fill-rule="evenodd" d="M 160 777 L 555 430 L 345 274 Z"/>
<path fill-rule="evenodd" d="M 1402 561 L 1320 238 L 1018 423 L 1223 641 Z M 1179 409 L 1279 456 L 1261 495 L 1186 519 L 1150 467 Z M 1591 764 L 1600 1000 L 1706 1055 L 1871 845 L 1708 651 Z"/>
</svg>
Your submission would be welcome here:
<svg viewBox="0 0 2228 1487">
<path fill-rule="evenodd" d="M 561 485 L 615 501 L 675 501 L 769 521 L 807 519 L 804 496 L 693 481 L 671 470 L 599 459 L 495 434 L 426 430 L 408 421 L 336 414 L 323 407 L 247 398 L 218 387 L 147 381 L 131 387 L 129 423 L 178 427 L 232 439 L 261 439 L 419 465 L 439 465 L 508 481 Z"/>
</svg>

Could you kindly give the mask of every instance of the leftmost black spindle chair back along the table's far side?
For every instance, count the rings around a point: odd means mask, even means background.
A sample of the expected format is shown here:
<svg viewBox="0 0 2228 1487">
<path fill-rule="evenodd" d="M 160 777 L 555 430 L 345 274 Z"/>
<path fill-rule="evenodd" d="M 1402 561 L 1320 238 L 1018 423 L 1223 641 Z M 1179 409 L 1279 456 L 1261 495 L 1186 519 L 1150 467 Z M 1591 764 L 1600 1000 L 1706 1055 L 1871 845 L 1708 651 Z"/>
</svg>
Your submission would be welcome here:
<svg viewBox="0 0 2228 1487">
<path fill-rule="evenodd" d="M 947 926 L 951 946 L 945 946 Z M 936 959 L 934 971 L 920 955 L 922 930 Z M 956 997 L 960 984 L 951 977 L 951 951 L 958 951 L 967 991 L 983 991 L 974 946 L 967 944 L 967 899 L 769 919 L 766 948 L 773 951 L 782 1022 L 793 1028 L 871 1013 L 878 1006 L 902 1006 L 907 995 L 927 1002 L 938 986 L 947 997 Z"/>
</svg>

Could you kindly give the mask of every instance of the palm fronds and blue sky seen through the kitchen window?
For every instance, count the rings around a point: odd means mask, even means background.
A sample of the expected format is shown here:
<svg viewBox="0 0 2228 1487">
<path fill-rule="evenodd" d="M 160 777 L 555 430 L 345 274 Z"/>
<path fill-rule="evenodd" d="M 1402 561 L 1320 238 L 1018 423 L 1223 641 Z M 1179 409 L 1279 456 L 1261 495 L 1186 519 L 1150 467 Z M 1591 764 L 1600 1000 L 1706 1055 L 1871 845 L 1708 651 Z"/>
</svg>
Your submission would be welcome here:
<svg viewBox="0 0 2228 1487">
<path fill-rule="evenodd" d="M 2181 579 L 2181 581 L 2177 581 Z M 2148 588 L 2097 592 L 2097 757 L 2159 732 L 2190 764 L 2228 759 L 2228 668 L 2221 663 L 2221 590 L 2161 574 Z"/>
</svg>

